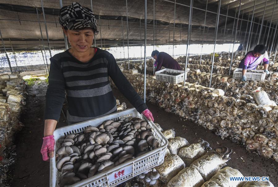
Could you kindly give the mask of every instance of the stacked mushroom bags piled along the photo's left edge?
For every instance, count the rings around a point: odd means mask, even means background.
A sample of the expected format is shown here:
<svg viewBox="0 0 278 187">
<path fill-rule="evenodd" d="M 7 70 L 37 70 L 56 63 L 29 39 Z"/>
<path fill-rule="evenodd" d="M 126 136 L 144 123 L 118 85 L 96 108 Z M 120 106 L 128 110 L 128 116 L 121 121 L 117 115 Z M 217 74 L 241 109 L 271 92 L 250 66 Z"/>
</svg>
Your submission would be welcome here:
<svg viewBox="0 0 278 187">
<path fill-rule="evenodd" d="M 13 135 L 22 129 L 20 115 L 26 104 L 26 85 L 20 74 L 0 75 L 0 186 L 7 178 L 7 166 L 14 163 Z"/>
</svg>

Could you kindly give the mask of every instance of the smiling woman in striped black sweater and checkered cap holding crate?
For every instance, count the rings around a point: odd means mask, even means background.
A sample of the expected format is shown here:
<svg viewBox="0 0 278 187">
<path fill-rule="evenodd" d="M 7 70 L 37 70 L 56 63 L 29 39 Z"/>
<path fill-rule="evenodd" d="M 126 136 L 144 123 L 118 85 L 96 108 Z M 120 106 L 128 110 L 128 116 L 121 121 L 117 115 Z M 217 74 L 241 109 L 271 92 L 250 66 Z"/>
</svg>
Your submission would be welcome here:
<svg viewBox="0 0 278 187">
<path fill-rule="evenodd" d="M 69 125 L 117 111 L 109 77 L 139 113 L 154 121 L 152 113 L 125 78 L 113 55 L 91 47 L 95 34 L 99 32 L 93 11 L 74 2 L 61 8 L 59 23 L 71 48 L 50 58 L 41 148 L 44 161 L 54 156 L 53 132 L 65 95 Z"/>
</svg>

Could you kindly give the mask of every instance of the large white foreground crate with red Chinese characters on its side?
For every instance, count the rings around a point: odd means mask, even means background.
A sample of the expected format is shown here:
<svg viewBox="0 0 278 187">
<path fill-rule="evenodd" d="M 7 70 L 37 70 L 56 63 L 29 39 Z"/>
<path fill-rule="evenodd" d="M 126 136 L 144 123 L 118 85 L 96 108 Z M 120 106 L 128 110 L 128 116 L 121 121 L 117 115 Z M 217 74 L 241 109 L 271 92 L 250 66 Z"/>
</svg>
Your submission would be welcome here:
<svg viewBox="0 0 278 187">
<path fill-rule="evenodd" d="M 89 121 L 77 123 L 74 125 L 68 125 L 65 127 L 58 128 L 54 131 L 54 139 L 55 139 L 55 150 L 54 155 L 56 154 L 57 144 L 59 138 L 65 137 L 69 134 L 83 132 L 87 126 L 95 126 L 98 127 L 106 120 L 117 120 L 121 117 L 140 117 L 144 118 L 146 121 L 145 116 L 142 116 L 140 113 L 137 112 L 135 108 L 127 109 L 122 112 L 113 113 L 104 117 L 99 117 L 97 119 L 92 119 Z M 99 173 L 93 177 L 87 178 L 86 180 L 80 181 L 72 187 L 112 187 L 123 183 L 146 170 L 154 168 L 163 163 L 164 156 L 166 153 L 166 148 L 168 145 L 168 141 L 166 137 L 161 133 L 161 131 L 157 128 L 157 126 L 152 122 L 148 121 L 150 127 L 153 129 L 152 133 L 156 139 L 158 139 L 160 147 L 154 149 L 148 153 L 145 153 L 139 157 L 134 158 L 128 162 L 125 162 L 121 165 L 118 165 L 108 171 L 103 173 Z M 117 177 L 115 179 L 114 174 L 124 170 L 124 175 Z M 59 186 L 58 185 L 58 178 L 60 177 L 61 172 L 59 172 L 56 168 L 56 161 L 55 158 L 50 159 L 50 181 L 49 186 Z"/>
</svg>

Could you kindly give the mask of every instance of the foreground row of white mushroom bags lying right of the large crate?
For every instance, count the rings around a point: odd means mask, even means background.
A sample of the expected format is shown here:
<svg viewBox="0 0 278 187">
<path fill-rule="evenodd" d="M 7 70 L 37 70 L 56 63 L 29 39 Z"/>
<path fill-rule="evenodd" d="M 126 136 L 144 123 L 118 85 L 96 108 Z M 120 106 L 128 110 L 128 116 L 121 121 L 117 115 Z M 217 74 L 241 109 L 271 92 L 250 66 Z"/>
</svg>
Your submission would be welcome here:
<svg viewBox="0 0 278 187">
<path fill-rule="evenodd" d="M 189 144 L 183 137 L 175 137 L 175 131 L 162 131 L 168 139 L 164 162 L 155 167 L 160 174 L 160 186 L 167 187 L 274 187 L 270 181 L 230 180 L 244 176 L 237 169 L 224 167 L 230 160 L 231 149 L 212 149 L 209 143 L 199 139 Z M 224 167 L 224 168 L 223 168 Z M 159 186 L 158 185 L 158 186 Z"/>
</svg>

